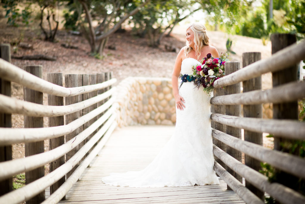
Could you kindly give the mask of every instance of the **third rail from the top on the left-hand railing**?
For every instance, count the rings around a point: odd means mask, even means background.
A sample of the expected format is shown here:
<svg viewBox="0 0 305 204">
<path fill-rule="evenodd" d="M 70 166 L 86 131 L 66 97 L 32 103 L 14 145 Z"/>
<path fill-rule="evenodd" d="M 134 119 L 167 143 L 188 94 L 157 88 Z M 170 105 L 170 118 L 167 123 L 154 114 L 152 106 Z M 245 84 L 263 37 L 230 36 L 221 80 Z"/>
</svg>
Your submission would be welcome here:
<svg viewBox="0 0 305 204">
<path fill-rule="evenodd" d="M 0 128 L 0 146 L 20 142 L 36 142 L 69 134 L 103 111 L 106 111 L 113 102 L 114 97 L 111 97 L 105 104 L 63 126 L 45 128 Z M 118 104 L 114 104 L 112 107 L 114 106 L 118 107 Z M 33 132 L 35 132 L 34 135 Z"/>
</svg>

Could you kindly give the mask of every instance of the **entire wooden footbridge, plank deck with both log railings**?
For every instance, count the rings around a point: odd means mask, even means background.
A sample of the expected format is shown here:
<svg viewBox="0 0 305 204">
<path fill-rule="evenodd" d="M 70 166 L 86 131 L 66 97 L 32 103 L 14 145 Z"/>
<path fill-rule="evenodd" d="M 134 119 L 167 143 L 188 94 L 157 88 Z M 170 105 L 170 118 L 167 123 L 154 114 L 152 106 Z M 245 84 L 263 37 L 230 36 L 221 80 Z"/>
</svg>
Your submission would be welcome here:
<svg viewBox="0 0 305 204">
<path fill-rule="evenodd" d="M 101 177 L 143 169 L 173 126 L 116 129 L 117 115 L 128 110 L 116 102 L 111 73 L 65 75 L 63 87 L 61 73 L 49 73 L 45 81 L 41 66 L 10 64 L 9 45 L 2 44 L 0 203 L 264 203 L 265 197 L 305 203 L 305 160 L 282 145 L 305 140 L 305 123 L 297 116 L 305 82 L 296 77 L 305 42 L 296 44 L 295 36 L 281 34 L 271 40 L 272 57 L 260 60 L 260 53 L 244 53 L 244 68 L 239 62 L 226 63 L 227 76 L 214 83 L 211 120 L 220 184 L 163 188 L 109 186 Z M 261 90 L 261 75 L 267 72 L 272 72 L 273 89 Z M 24 100 L 11 97 L 11 82 L 24 86 Z M 48 105 L 42 103 L 43 93 Z M 264 103 L 273 104 L 273 119 L 262 119 Z M 24 128 L 11 128 L 11 114 L 24 115 Z M 49 127 L 44 127 L 44 117 Z M 263 132 L 274 135 L 274 150 L 262 146 Z M 44 151 L 44 140 L 50 142 L 49 151 Z M 12 160 L 12 144 L 22 142 L 25 157 Z M 275 169 L 275 181 L 258 172 L 260 162 Z M 50 173 L 45 175 L 46 164 Z M 23 172 L 26 185 L 12 190 L 12 177 Z"/>
</svg>

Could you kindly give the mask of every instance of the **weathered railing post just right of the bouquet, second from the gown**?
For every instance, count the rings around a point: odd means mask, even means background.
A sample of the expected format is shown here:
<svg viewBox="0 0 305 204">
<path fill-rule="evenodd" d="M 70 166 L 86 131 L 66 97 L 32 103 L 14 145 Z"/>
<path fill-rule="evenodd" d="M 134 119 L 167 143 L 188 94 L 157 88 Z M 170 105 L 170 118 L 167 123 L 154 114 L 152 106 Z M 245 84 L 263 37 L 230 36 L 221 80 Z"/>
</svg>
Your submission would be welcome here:
<svg viewBox="0 0 305 204">
<path fill-rule="evenodd" d="M 227 62 L 224 64 L 224 69 L 225 69 L 226 75 L 229 75 L 240 69 L 240 63 L 239 62 Z M 237 83 L 237 84 L 234 84 L 231 86 L 227 86 L 227 87 L 225 87 L 225 89 L 226 89 L 225 95 L 240 93 L 240 83 Z M 225 109 L 226 109 L 226 115 L 233 115 L 233 116 L 241 115 L 241 106 L 240 105 L 226 105 Z M 241 137 L 242 137 L 241 129 L 234 128 L 231 126 L 226 127 L 226 133 L 229 135 L 232 135 L 233 137 L 237 137 L 239 139 L 241 139 Z M 240 162 L 242 161 L 242 153 L 240 151 L 227 146 L 226 152 L 229 155 L 231 155 L 232 157 L 234 157 L 235 159 L 237 159 L 238 161 L 240 161 Z M 239 176 L 237 173 L 235 173 L 235 171 L 233 171 L 232 169 L 230 169 L 228 167 L 227 167 L 227 171 L 229 173 L 231 173 L 231 175 L 233 175 L 237 180 L 239 180 L 242 183 L 242 177 Z M 232 190 L 228 185 L 227 185 L 227 189 Z"/>
</svg>

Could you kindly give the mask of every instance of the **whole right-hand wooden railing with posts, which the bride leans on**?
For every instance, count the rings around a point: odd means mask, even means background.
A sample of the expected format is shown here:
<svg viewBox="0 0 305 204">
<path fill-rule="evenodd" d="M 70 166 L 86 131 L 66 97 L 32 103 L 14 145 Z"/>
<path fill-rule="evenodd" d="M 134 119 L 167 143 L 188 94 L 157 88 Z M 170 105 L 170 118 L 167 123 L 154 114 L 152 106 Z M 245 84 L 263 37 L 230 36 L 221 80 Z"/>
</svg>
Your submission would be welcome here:
<svg viewBox="0 0 305 204">
<path fill-rule="evenodd" d="M 228 189 L 246 203 L 264 203 L 265 192 L 280 203 L 305 203 L 304 191 L 302 195 L 298 189 L 291 189 L 296 187 L 296 181 L 305 179 L 305 159 L 284 152 L 279 145 L 282 141 L 291 144 L 305 139 L 305 123 L 298 121 L 297 114 L 297 100 L 305 97 L 305 82 L 297 80 L 298 64 L 305 59 L 305 41 L 296 44 L 295 35 L 284 34 L 272 35 L 271 41 L 270 58 L 260 60 L 260 53 L 243 53 L 244 68 L 240 69 L 237 62 L 226 63 L 227 76 L 214 83 L 217 88 L 211 99 L 214 170 Z M 267 72 L 272 72 L 273 89 L 264 91 L 261 75 Z M 219 89 L 223 86 L 226 88 Z M 262 119 L 263 103 L 273 103 L 273 119 Z M 262 133 L 274 135 L 274 150 L 262 146 Z M 280 175 L 277 182 L 270 182 L 258 172 L 260 162 L 275 168 Z M 246 186 L 242 185 L 242 177 Z M 290 184 L 284 184 L 285 179 L 291 179 Z"/>
</svg>

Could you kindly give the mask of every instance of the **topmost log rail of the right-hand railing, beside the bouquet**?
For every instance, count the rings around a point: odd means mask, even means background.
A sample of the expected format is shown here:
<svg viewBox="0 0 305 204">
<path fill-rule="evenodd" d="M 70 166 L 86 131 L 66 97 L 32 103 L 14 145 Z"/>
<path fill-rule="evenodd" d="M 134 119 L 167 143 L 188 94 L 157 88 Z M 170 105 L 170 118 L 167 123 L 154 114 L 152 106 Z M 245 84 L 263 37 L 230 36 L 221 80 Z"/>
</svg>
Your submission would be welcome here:
<svg viewBox="0 0 305 204">
<path fill-rule="evenodd" d="M 287 60 L 289 56 L 289 60 Z M 248 66 L 216 80 L 214 88 L 236 84 L 268 72 L 283 70 L 305 59 L 305 40 L 278 51 L 271 57 L 249 64 Z"/>
</svg>

